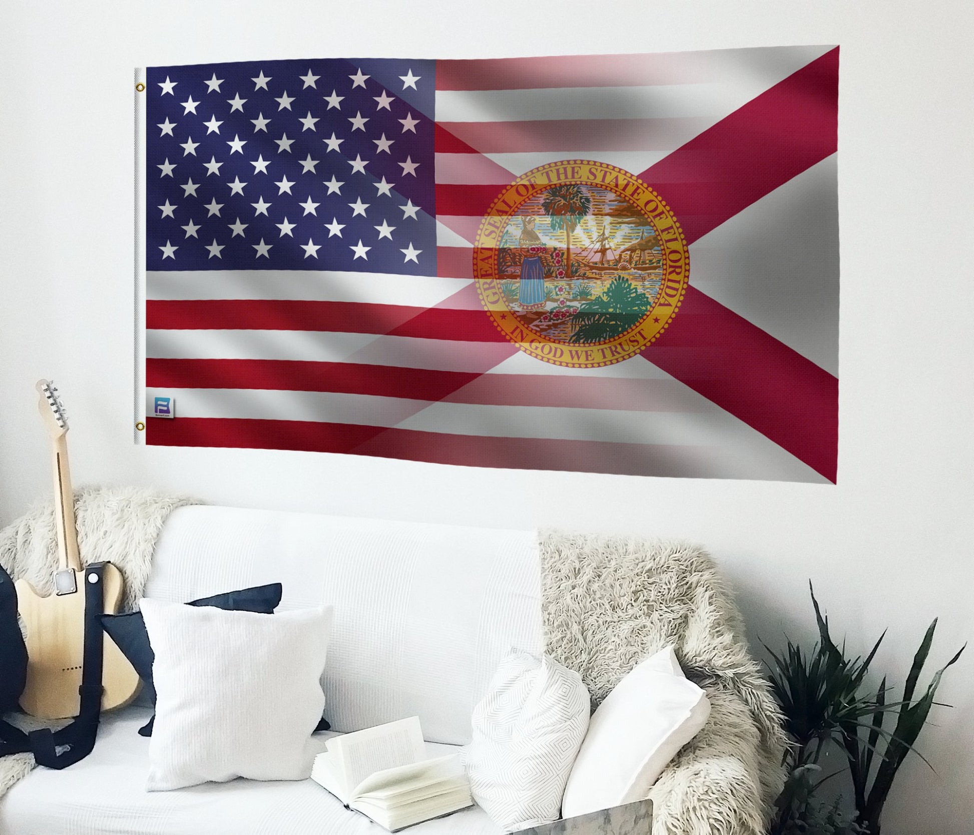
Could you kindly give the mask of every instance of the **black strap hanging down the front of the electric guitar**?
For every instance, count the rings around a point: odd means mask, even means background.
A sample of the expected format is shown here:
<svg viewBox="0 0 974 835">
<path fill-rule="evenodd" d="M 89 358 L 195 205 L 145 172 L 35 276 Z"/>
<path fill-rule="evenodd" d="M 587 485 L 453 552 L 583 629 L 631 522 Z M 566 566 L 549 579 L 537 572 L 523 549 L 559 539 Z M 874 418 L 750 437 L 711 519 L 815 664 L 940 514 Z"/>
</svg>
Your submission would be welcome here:
<svg viewBox="0 0 974 835">
<path fill-rule="evenodd" d="M 101 667 L 104 638 L 101 615 L 105 608 L 103 562 L 85 566 L 85 655 L 82 662 L 81 705 L 77 718 L 59 731 L 32 731 L 29 749 L 39 765 L 63 769 L 83 760 L 94 748 L 101 718 Z"/>
</svg>

